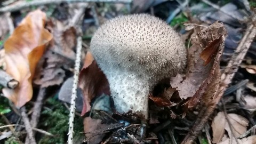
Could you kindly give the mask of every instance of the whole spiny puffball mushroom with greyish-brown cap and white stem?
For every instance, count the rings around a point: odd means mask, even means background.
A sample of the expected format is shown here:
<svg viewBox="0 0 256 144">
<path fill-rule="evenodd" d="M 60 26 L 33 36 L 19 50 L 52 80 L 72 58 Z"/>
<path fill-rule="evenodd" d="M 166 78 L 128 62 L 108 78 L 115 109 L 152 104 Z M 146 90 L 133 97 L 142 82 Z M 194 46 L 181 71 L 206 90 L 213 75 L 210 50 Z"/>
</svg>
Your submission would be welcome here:
<svg viewBox="0 0 256 144">
<path fill-rule="evenodd" d="M 148 95 L 158 81 L 181 73 L 187 51 L 179 35 L 149 14 L 107 21 L 94 34 L 91 52 L 106 75 L 118 113 L 148 117 Z"/>
</svg>

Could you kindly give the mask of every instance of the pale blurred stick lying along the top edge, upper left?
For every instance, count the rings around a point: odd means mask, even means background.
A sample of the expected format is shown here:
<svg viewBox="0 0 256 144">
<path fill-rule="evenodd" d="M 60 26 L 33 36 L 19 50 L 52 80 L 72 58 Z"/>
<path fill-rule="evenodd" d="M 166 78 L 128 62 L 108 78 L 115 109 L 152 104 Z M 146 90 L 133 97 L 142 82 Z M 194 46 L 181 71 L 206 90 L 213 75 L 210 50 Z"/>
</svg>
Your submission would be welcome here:
<svg viewBox="0 0 256 144">
<path fill-rule="evenodd" d="M 77 2 L 109 2 L 109 3 L 131 3 L 132 0 L 37 0 L 37 1 L 22 1 L 12 5 L 7 5 L 0 8 L 0 13 L 18 11 L 30 6 L 39 6 L 46 4 L 60 4 L 63 2 L 77 3 Z"/>
</svg>

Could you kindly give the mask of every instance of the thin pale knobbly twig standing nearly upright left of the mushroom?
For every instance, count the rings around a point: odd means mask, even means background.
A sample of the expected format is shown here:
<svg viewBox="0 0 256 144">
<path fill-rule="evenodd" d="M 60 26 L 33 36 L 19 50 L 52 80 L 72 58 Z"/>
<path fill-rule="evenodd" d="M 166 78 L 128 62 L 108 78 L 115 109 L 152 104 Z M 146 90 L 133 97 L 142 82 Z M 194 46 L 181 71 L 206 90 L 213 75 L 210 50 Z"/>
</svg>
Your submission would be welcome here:
<svg viewBox="0 0 256 144">
<path fill-rule="evenodd" d="M 72 95 L 70 101 L 70 113 L 69 113 L 69 130 L 68 130 L 68 143 L 73 143 L 73 129 L 74 129 L 74 117 L 75 117 L 75 105 L 76 105 L 76 89 L 78 84 L 78 76 L 81 62 L 81 51 L 82 51 L 82 37 L 77 38 L 77 48 L 76 48 L 76 62 L 74 71 L 74 83 L 72 88 Z"/>
</svg>

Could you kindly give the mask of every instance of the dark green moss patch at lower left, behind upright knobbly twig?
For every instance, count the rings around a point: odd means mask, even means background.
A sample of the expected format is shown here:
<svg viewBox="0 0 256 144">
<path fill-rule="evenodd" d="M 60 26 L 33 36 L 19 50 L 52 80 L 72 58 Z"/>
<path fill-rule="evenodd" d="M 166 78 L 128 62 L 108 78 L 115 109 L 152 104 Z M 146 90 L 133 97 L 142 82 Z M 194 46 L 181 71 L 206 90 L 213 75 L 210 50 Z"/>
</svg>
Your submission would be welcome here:
<svg viewBox="0 0 256 144">
<path fill-rule="evenodd" d="M 41 114 L 41 127 L 54 135 L 50 137 L 45 135 L 38 143 L 66 143 L 68 133 L 69 110 L 62 103 L 53 98 L 47 100 L 47 105 L 52 106 L 51 109 L 45 109 Z M 74 131 L 79 135 L 83 131 L 83 120 L 81 117 L 75 117 Z M 81 135 L 81 134 L 80 134 Z"/>
</svg>

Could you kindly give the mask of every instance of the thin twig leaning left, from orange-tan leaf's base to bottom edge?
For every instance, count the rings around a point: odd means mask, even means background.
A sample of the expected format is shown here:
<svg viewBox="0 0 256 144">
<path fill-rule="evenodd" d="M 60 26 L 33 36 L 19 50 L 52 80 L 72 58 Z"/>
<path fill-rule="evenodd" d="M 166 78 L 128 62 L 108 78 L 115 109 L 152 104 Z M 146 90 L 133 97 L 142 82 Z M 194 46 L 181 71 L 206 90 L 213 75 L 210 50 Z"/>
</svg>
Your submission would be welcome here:
<svg viewBox="0 0 256 144">
<path fill-rule="evenodd" d="M 35 140 L 34 135 L 33 135 L 32 127 L 29 123 L 28 115 L 26 114 L 26 108 L 23 106 L 23 107 L 20 108 L 20 110 L 21 110 L 21 117 L 22 117 L 22 120 L 24 122 L 25 129 L 28 133 L 30 143 L 31 144 L 36 144 L 36 140 Z"/>
</svg>

